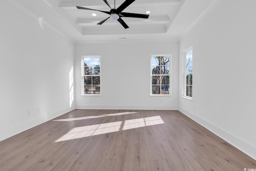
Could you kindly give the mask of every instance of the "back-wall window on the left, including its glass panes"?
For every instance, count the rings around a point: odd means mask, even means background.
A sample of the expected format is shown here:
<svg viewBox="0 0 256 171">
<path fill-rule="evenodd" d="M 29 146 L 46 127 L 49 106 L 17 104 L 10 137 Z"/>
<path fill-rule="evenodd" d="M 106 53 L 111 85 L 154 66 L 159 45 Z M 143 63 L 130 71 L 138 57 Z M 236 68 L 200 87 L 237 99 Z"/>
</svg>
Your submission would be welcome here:
<svg viewBox="0 0 256 171">
<path fill-rule="evenodd" d="M 100 57 L 82 57 L 83 95 L 101 94 L 100 91 Z"/>
</svg>

